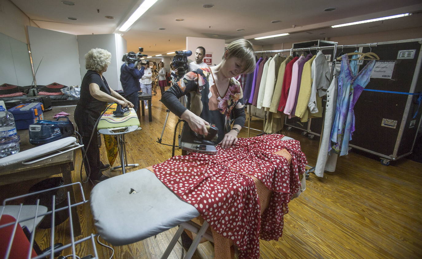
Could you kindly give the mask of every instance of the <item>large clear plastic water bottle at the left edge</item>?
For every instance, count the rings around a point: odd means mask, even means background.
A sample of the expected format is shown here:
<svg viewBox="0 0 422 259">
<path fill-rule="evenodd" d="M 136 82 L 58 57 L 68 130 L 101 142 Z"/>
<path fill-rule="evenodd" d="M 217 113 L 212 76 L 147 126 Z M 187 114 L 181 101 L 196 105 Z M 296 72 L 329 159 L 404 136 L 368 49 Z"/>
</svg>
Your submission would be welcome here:
<svg viewBox="0 0 422 259">
<path fill-rule="evenodd" d="M 0 106 L 0 157 L 19 152 L 19 135 L 13 114 Z"/>
</svg>

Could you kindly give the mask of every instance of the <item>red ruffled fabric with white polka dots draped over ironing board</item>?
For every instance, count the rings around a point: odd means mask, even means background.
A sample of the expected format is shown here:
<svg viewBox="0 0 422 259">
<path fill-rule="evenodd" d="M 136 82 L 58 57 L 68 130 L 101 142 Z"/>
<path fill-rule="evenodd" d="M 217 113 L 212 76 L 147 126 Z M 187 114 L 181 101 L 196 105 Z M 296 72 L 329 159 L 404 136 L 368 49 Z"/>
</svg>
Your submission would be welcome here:
<svg viewBox="0 0 422 259">
<path fill-rule="evenodd" d="M 272 134 L 239 138 L 231 148 L 217 147 L 216 155 L 190 153 L 155 165 L 154 173 L 167 187 L 197 208 L 220 235 L 240 248 L 239 258 L 259 258 L 259 237 L 278 240 L 283 216 L 292 195 L 300 191 L 306 157 L 296 140 L 282 141 Z M 292 155 L 274 155 L 282 149 Z M 251 177 L 274 191 L 270 204 L 260 216 L 260 202 Z M 262 226 L 262 228 L 261 228 Z"/>
</svg>

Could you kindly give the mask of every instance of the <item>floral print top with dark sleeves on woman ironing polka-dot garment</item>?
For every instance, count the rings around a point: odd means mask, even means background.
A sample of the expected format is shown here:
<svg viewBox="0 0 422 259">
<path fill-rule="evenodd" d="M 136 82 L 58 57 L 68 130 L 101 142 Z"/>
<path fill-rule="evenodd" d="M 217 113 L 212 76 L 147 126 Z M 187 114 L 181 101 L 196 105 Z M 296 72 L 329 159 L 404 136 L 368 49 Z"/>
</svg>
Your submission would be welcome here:
<svg viewBox="0 0 422 259">
<path fill-rule="evenodd" d="M 219 129 L 217 142 L 230 131 L 232 123 L 245 124 L 243 91 L 240 83 L 230 78 L 226 93 L 219 93 L 209 67 L 188 72 L 170 89 L 163 93 L 161 101 L 178 115 L 187 109 L 178 100 L 187 95 L 188 107 L 195 115 Z"/>
</svg>

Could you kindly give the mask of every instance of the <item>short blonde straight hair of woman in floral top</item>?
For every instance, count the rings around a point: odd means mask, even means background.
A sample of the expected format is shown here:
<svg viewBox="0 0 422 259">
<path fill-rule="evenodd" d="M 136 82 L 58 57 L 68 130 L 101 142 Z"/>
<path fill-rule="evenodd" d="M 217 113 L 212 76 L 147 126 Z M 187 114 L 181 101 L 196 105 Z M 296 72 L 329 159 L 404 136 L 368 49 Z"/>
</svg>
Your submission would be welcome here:
<svg viewBox="0 0 422 259">
<path fill-rule="evenodd" d="M 227 46 L 226 51 L 228 51 L 226 59 L 229 59 L 232 56 L 241 59 L 243 62 L 242 73 L 249 74 L 255 69 L 254 48 L 249 40 L 235 40 Z M 225 59 L 224 56 L 223 59 Z"/>
</svg>

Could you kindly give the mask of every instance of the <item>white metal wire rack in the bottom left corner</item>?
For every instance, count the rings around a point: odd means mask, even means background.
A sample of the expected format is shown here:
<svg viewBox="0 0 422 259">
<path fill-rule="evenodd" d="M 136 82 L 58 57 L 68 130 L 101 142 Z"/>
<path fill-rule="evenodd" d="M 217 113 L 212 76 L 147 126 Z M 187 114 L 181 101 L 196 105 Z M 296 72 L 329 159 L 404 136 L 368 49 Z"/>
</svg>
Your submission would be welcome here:
<svg viewBox="0 0 422 259">
<path fill-rule="evenodd" d="M 76 188 L 73 188 L 76 187 Z M 76 182 L 76 183 L 72 183 L 72 184 L 66 184 L 66 185 L 62 185 L 60 187 L 54 187 L 54 188 L 50 188 L 48 190 L 42 190 L 42 191 L 38 191 L 38 192 L 31 192 L 25 195 L 20 195 L 20 196 L 16 196 L 14 198 L 7 198 L 3 201 L 3 207 L 0 209 L 0 220 L 3 217 L 3 215 L 5 214 L 5 208 L 6 206 L 10 205 L 11 203 L 19 203 L 18 201 L 21 200 L 22 198 L 27 198 L 29 196 L 33 196 L 33 195 L 39 195 L 41 193 L 46 193 L 46 192 L 51 192 L 51 191 L 55 191 L 58 189 L 62 189 L 64 188 L 65 190 L 72 190 L 74 189 L 75 194 L 76 192 L 80 192 L 80 196 L 81 197 L 81 201 L 78 203 L 71 203 L 70 201 L 70 192 L 67 191 L 66 193 L 66 198 L 67 198 L 67 205 L 66 206 L 62 206 L 61 208 L 56 208 L 56 195 L 52 195 L 52 201 L 51 201 L 51 210 L 47 210 L 46 213 L 42 213 L 42 214 L 38 214 L 38 211 L 40 211 L 41 206 L 40 205 L 40 199 L 36 199 L 36 207 L 35 207 L 35 213 L 33 216 L 21 216 L 21 214 L 23 215 L 23 210 L 25 208 L 26 205 L 24 205 L 23 203 L 19 204 L 19 212 L 17 214 L 17 216 L 15 216 L 15 221 L 14 222 L 8 222 L 5 224 L 0 224 L 0 231 L 2 231 L 2 228 L 5 227 L 10 227 L 13 226 L 13 230 L 11 232 L 8 232 L 7 235 L 3 235 L 0 236 L 0 239 L 3 239 L 4 241 L 6 240 L 5 238 L 8 238 L 8 242 L 7 242 L 7 247 L 3 247 L 1 249 L 4 249 L 3 252 L 4 253 L 4 259 L 14 259 L 13 257 L 11 257 L 11 252 L 12 251 L 12 245 L 14 244 L 14 242 L 18 242 L 15 240 L 15 235 L 16 235 L 16 231 L 19 230 L 19 228 L 21 228 L 21 223 L 22 222 L 26 222 L 26 221 L 32 221 L 33 222 L 33 227 L 32 230 L 30 230 L 30 237 L 28 236 L 28 241 L 30 242 L 30 246 L 27 247 L 27 253 L 26 253 L 26 258 L 27 259 L 40 259 L 40 258 L 55 258 L 57 256 L 57 253 L 60 251 L 63 251 L 64 249 L 67 248 L 71 248 L 72 254 L 68 255 L 68 256 L 62 256 L 62 258 L 64 257 L 71 257 L 73 259 L 76 258 L 99 258 L 98 257 L 98 252 L 97 252 L 97 247 L 95 244 L 95 237 L 97 237 L 98 234 L 90 234 L 88 236 L 82 237 L 82 238 L 78 238 L 78 240 L 75 240 L 74 237 L 74 230 L 73 230 L 73 223 L 72 223 L 72 209 L 76 209 L 77 206 L 88 203 L 89 200 L 85 199 L 85 195 L 84 195 L 84 191 L 82 188 L 81 183 Z M 59 247 L 55 247 L 55 220 L 56 220 L 56 214 L 60 211 L 67 211 L 67 214 L 69 216 L 69 231 L 70 231 L 70 242 L 67 244 L 64 244 L 62 246 Z M 50 245 L 50 249 L 49 251 L 43 251 L 41 254 L 38 254 L 35 257 L 32 257 L 32 252 L 33 252 L 33 248 L 34 248 L 34 243 L 35 243 L 35 233 L 37 231 L 37 219 L 39 222 L 40 218 L 43 218 L 45 216 L 51 215 L 51 231 L 50 231 L 50 235 L 49 235 L 49 245 Z M 23 227 L 23 226 L 22 226 Z M 4 232 L 3 232 L 4 233 Z M 86 242 L 86 243 L 84 243 Z M 89 243 L 91 243 L 92 245 L 92 251 L 93 254 L 89 254 L 89 255 L 84 255 L 85 257 L 80 257 L 81 255 L 77 256 L 76 255 L 76 247 L 77 246 L 84 246 L 83 251 L 87 251 L 87 247 L 89 246 Z M 22 248 L 22 247 L 21 247 Z M 78 249 L 78 250 L 82 250 L 82 249 Z M 35 250 L 36 251 L 36 250 Z M 56 256 L 54 256 L 54 254 L 56 254 Z"/>
</svg>

